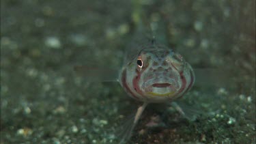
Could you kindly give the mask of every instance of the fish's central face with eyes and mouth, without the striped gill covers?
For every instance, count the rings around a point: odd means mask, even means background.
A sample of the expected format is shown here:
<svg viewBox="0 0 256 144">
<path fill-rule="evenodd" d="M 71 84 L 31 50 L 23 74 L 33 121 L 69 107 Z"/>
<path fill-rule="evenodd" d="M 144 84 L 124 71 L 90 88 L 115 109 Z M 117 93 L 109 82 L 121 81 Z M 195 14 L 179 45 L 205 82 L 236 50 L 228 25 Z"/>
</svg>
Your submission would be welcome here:
<svg viewBox="0 0 256 144">
<path fill-rule="evenodd" d="M 171 96 L 182 85 L 184 66 L 183 57 L 170 49 L 144 49 L 137 57 L 139 86 L 150 96 Z"/>
</svg>

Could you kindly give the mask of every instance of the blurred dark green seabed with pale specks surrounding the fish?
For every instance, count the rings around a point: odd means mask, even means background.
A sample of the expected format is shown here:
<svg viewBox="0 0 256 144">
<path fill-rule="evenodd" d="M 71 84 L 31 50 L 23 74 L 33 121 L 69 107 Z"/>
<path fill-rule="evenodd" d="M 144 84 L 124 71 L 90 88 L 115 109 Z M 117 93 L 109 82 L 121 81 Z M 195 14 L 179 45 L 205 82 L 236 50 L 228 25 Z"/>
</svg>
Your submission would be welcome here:
<svg viewBox="0 0 256 144">
<path fill-rule="evenodd" d="M 139 102 L 73 67 L 120 68 L 138 11 L 193 68 L 224 73 L 202 73 L 182 99 L 208 115 L 173 111 L 150 130 L 152 115 L 171 110 L 147 109 L 129 143 L 255 143 L 254 0 L 1 0 L 1 143 L 117 143 L 119 121 Z"/>
</svg>

